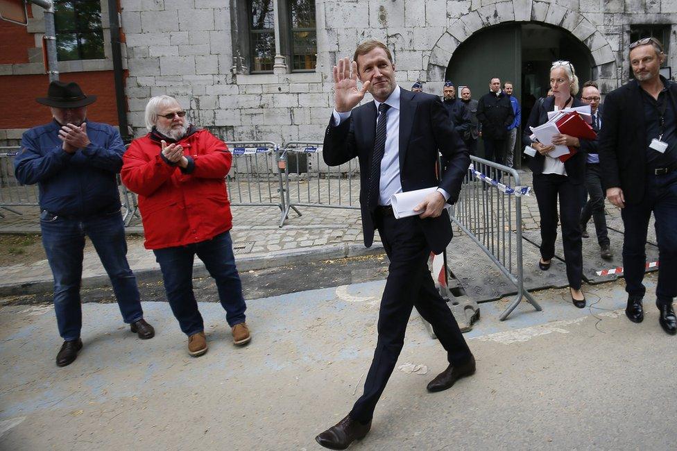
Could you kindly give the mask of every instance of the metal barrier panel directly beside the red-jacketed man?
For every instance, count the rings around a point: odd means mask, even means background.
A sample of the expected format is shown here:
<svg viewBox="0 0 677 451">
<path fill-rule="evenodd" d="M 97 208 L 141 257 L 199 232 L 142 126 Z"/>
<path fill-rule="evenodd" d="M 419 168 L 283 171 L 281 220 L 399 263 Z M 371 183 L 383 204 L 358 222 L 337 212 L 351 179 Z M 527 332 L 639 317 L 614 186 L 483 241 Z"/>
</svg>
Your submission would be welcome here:
<svg viewBox="0 0 677 451">
<path fill-rule="evenodd" d="M 268 206 L 280 209 L 280 226 L 286 215 L 284 201 L 284 162 L 280 148 L 268 141 L 226 142 L 233 155 L 226 176 L 230 205 Z"/>
</svg>

